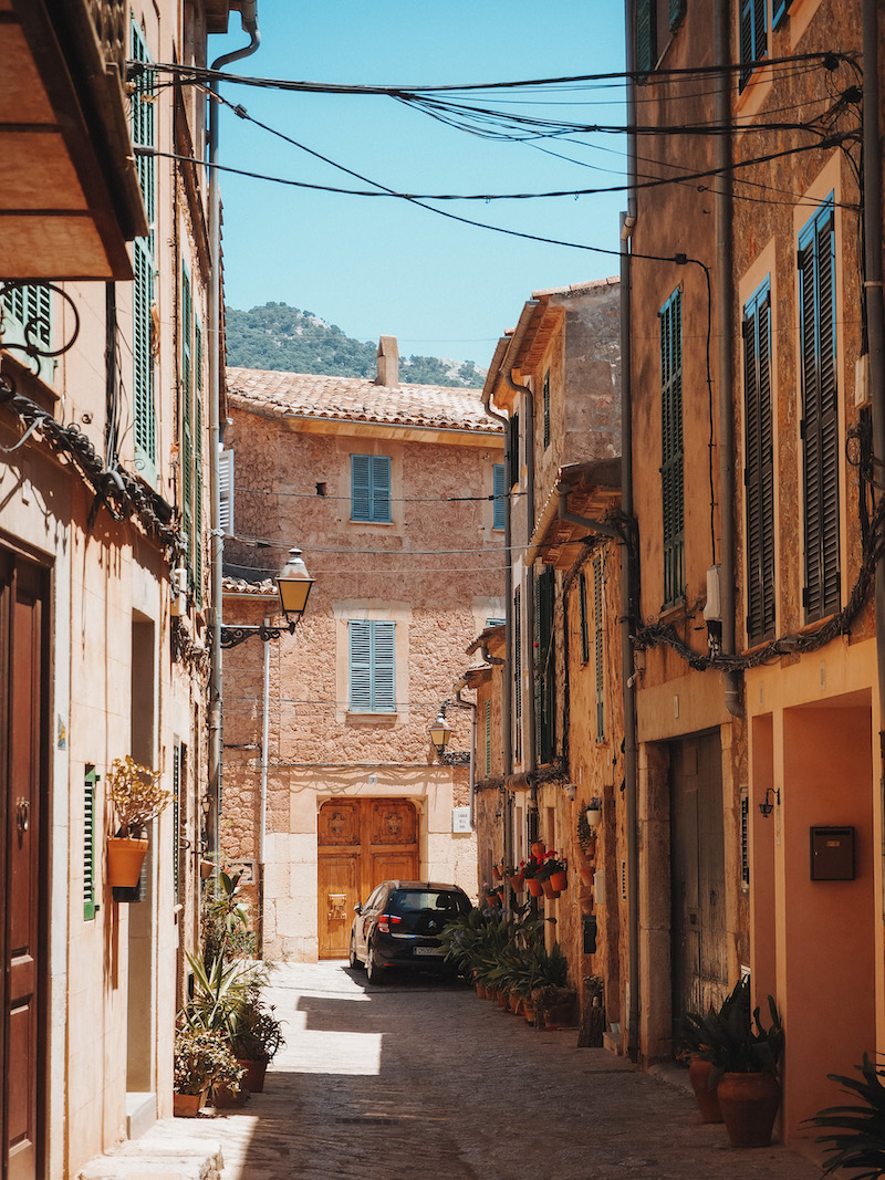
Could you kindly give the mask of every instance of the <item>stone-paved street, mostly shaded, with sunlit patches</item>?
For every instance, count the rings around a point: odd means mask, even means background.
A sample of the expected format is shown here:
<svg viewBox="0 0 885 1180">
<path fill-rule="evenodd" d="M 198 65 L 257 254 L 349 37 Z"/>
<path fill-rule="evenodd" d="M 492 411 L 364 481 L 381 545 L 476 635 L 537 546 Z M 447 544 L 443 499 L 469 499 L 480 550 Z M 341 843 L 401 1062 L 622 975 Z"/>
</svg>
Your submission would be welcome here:
<svg viewBox="0 0 885 1180">
<path fill-rule="evenodd" d="M 575 1029 L 536 1031 L 459 984 L 389 975 L 369 988 L 343 963 L 286 964 L 268 998 L 288 1044 L 266 1093 L 215 1117 L 155 1125 L 116 1156 L 132 1169 L 96 1180 L 184 1180 L 171 1159 L 165 1172 L 157 1161 L 181 1139 L 205 1145 L 201 1165 L 221 1146 L 222 1180 L 820 1176 L 781 1146 L 730 1148 L 681 1086 L 578 1049 Z"/>
</svg>

